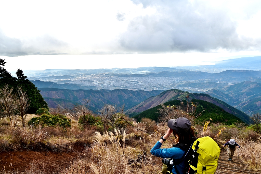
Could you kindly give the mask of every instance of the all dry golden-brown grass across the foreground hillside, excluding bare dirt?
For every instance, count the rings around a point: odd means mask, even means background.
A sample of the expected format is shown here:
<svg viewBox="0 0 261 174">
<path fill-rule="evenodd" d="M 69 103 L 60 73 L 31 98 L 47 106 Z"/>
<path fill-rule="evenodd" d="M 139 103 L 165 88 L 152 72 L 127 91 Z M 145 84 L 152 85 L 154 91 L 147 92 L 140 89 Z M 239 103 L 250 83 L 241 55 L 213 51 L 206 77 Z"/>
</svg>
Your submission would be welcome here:
<svg viewBox="0 0 261 174">
<path fill-rule="evenodd" d="M 35 115 L 30 115 L 34 117 Z M 27 118 L 30 118 L 27 117 Z M 160 173 L 161 158 L 150 154 L 151 148 L 168 129 L 167 122 L 158 125 L 149 119 L 133 122 L 125 130 L 114 132 L 96 132 L 95 127 L 79 128 L 74 117 L 72 127 L 63 129 L 56 127 L 10 127 L 0 126 L 0 151 L 26 149 L 48 149 L 53 152 L 74 151 L 75 146 L 85 147 L 82 156 L 71 162 L 70 166 L 59 169 L 59 173 Z M 29 119 L 28 119 L 29 120 Z M 204 132 L 205 136 L 214 137 L 221 124 L 211 123 Z M 203 136 L 203 127 L 195 125 L 197 137 Z M 95 132 L 95 133 L 94 133 Z M 239 155 L 252 168 L 261 168 L 261 139 L 250 129 L 245 127 L 227 127 L 217 141 L 219 145 L 230 138 L 236 139 L 241 146 Z M 162 148 L 171 148 L 175 144 L 174 136 L 164 142 Z M 237 153 L 237 152 L 236 152 Z M 47 169 L 40 169 L 38 164 L 31 163 L 22 173 L 50 173 Z M 5 172 L 8 173 L 8 172 Z M 14 173 L 10 171 L 9 173 Z M 19 172 L 18 172 L 19 173 Z M 21 172 L 20 172 L 21 173 Z"/>
</svg>

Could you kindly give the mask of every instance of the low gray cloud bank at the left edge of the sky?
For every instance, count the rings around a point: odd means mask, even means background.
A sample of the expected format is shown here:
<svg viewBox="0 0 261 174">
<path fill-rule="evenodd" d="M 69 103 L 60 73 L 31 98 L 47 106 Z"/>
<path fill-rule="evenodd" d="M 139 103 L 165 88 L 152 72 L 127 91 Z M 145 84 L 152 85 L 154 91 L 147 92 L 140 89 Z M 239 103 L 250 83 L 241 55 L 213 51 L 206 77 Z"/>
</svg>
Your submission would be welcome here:
<svg viewBox="0 0 261 174">
<path fill-rule="evenodd" d="M 19 40 L 4 35 L 0 30 L 0 55 L 15 57 L 21 55 L 67 54 L 68 44 L 45 35 L 30 40 Z"/>
</svg>

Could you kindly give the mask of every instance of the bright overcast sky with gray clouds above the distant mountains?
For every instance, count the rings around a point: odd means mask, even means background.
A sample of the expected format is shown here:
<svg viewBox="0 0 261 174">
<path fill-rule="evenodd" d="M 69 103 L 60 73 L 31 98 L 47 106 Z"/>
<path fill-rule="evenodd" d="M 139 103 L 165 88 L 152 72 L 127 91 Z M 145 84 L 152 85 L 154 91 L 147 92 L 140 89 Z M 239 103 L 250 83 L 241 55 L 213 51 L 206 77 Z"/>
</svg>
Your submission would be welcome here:
<svg viewBox="0 0 261 174">
<path fill-rule="evenodd" d="M 261 55 L 261 1 L 1 1 L 6 68 L 213 64 Z"/>
</svg>

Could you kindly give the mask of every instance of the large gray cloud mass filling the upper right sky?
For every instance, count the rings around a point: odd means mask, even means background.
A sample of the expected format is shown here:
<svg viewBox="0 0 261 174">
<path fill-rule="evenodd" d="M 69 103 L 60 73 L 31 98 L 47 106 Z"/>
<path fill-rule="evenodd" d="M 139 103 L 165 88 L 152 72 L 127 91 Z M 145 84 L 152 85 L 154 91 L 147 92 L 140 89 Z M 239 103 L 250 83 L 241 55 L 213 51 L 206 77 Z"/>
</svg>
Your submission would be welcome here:
<svg viewBox="0 0 261 174">
<path fill-rule="evenodd" d="M 259 49 L 261 40 L 240 38 L 226 11 L 207 7 L 204 2 L 133 0 L 144 8 L 154 7 L 160 15 L 140 16 L 120 36 L 129 52 L 157 53 L 200 51 L 223 48 L 228 51 Z"/>
</svg>

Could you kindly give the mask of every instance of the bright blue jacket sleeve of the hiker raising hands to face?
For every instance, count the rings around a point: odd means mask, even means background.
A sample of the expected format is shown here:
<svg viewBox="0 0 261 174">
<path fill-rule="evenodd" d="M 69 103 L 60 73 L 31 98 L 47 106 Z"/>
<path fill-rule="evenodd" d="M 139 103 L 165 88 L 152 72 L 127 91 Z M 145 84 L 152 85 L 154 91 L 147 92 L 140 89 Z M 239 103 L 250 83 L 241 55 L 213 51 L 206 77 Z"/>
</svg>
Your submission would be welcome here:
<svg viewBox="0 0 261 174">
<path fill-rule="evenodd" d="M 161 149 L 161 142 L 157 142 L 151 149 L 150 153 L 155 155 L 156 157 L 161 158 L 173 158 L 173 159 L 181 159 L 185 154 L 184 150 L 181 150 L 178 147 L 172 148 L 163 148 Z"/>
</svg>

